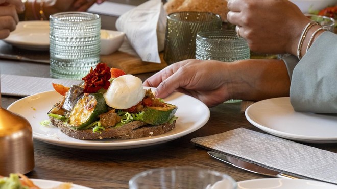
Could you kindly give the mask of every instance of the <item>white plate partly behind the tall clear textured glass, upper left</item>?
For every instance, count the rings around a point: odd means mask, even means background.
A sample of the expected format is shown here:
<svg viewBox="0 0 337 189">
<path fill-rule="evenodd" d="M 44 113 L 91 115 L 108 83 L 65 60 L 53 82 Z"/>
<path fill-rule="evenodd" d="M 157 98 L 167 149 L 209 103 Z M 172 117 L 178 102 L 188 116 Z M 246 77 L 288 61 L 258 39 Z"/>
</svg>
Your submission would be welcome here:
<svg viewBox="0 0 337 189">
<path fill-rule="evenodd" d="M 28 50 L 49 50 L 49 21 L 20 21 L 5 42 Z"/>
</svg>

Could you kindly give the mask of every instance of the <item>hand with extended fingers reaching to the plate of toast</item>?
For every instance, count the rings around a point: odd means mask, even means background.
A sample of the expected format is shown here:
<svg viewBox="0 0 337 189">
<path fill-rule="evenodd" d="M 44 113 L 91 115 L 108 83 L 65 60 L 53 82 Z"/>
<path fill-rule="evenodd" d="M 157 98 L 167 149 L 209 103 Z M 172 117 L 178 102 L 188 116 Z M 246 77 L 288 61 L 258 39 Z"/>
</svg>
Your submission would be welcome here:
<svg viewBox="0 0 337 189">
<path fill-rule="evenodd" d="M 189 59 L 172 64 L 147 79 L 143 85 L 157 87 L 159 98 L 174 91 L 195 97 L 213 107 L 230 99 L 227 63 Z"/>
</svg>

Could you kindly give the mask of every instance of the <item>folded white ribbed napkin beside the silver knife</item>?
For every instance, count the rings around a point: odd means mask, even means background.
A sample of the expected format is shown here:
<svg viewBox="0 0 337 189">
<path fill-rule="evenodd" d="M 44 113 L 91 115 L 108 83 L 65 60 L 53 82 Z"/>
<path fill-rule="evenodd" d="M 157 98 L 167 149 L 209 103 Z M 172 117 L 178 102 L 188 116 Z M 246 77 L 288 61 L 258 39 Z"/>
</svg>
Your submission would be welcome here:
<svg viewBox="0 0 337 189">
<path fill-rule="evenodd" d="M 283 173 L 337 184 L 337 154 L 333 152 L 245 128 L 191 141 Z"/>
</svg>

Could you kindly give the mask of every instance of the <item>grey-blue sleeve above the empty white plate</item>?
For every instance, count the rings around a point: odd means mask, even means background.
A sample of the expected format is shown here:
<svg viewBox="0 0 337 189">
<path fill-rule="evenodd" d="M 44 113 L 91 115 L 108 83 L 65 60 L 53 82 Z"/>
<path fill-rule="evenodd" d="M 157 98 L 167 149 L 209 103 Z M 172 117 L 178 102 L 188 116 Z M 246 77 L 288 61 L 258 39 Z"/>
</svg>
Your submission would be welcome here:
<svg viewBox="0 0 337 189">
<path fill-rule="evenodd" d="M 337 113 L 337 35 L 322 33 L 293 70 L 295 111 Z"/>
</svg>

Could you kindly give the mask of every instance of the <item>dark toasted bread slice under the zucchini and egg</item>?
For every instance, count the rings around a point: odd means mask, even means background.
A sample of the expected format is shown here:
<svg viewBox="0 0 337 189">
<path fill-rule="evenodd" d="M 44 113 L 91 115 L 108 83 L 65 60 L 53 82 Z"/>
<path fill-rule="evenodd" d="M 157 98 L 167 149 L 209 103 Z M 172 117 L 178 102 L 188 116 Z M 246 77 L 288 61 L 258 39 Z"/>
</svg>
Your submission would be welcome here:
<svg viewBox="0 0 337 189">
<path fill-rule="evenodd" d="M 103 139 L 103 138 L 118 138 L 118 139 L 135 139 L 141 137 L 156 136 L 159 134 L 164 134 L 172 130 L 175 126 L 175 121 L 170 123 L 165 123 L 162 125 L 149 125 L 141 121 L 133 121 L 125 124 L 121 127 L 110 127 L 99 132 L 92 132 L 92 129 L 77 130 L 71 128 L 64 121 L 50 117 L 52 124 L 58 127 L 66 135 L 81 139 Z"/>
</svg>

